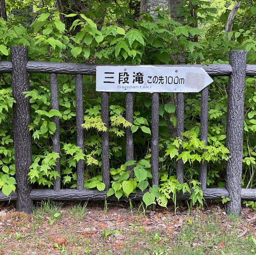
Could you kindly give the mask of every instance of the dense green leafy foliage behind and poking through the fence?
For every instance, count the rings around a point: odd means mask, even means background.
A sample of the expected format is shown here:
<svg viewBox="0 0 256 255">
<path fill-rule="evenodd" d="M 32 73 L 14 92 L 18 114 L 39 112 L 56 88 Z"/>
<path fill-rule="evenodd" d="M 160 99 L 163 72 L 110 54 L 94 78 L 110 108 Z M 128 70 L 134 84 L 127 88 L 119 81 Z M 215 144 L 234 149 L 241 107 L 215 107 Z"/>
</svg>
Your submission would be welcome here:
<svg viewBox="0 0 256 255">
<path fill-rule="evenodd" d="M 198 1 L 197 1 L 198 2 Z M 192 1 L 193 3 L 193 1 Z M 255 28 L 251 22 L 241 24 L 241 18 L 254 15 L 255 8 L 245 13 L 242 5 L 234 20 L 232 32 L 225 34 L 224 28 L 228 12 L 218 14 L 209 3 L 198 4 L 198 22 L 202 29 L 195 28 L 193 17 L 188 15 L 189 1 L 179 10 L 185 19 L 183 24 L 170 18 L 168 11 L 158 12 L 157 20 L 143 13 L 142 18 L 132 18 L 127 8 L 113 4 L 108 6 L 109 16 L 101 28 L 95 23 L 96 13 L 68 14 L 74 22 L 69 30 L 59 20 L 54 7 L 41 8 L 38 17 L 29 26 L 19 17 L 10 14 L 9 22 L 0 19 L 1 60 L 10 60 L 11 45 L 27 45 L 29 60 L 64 61 L 83 63 L 114 64 L 177 64 L 186 63 L 228 63 L 230 49 L 246 49 L 247 63 L 253 64 L 256 57 Z M 244 3 L 243 3 L 244 4 Z M 208 6 L 208 7 L 207 7 Z M 207 8 L 206 8 L 207 7 Z M 25 8 L 23 6 L 23 8 Z M 110 11 L 111 10 L 111 11 Z M 111 14 L 111 15 L 110 15 Z M 208 28 L 203 25 L 208 24 Z M 80 26 L 80 32 L 72 31 Z M 199 36 L 199 42 L 194 37 Z M 255 63 L 254 63 L 255 64 Z M 28 179 L 34 188 L 52 187 L 58 173 L 54 171 L 56 158 L 60 157 L 62 188 L 76 187 L 76 163 L 85 160 L 84 188 L 104 190 L 101 173 L 101 132 L 104 123 L 100 119 L 100 93 L 95 91 L 95 76 L 84 76 L 84 153 L 76 146 L 76 111 L 74 75 L 58 75 L 60 110 L 50 109 L 50 79 L 48 74 L 31 73 L 30 97 L 32 123 L 33 163 Z M 0 76 L 0 188 L 9 195 L 15 190 L 15 164 L 12 132 L 11 75 Z M 256 178 L 256 80 L 246 79 L 244 105 L 244 153 L 242 186 L 254 188 Z M 151 95 L 134 95 L 134 124 L 125 117 L 125 94 L 110 94 L 110 174 L 111 188 L 108 195 L 118 198 L 128 196 L 138 190 L 150 188 L 144 196 L 146 205 L 155 200 L 166 206 L 170 192 L 190 192 L 191 200 L 202 203 L 199 166 L 201 160 L 208 161 L 208 187 L 224 187 L 225 160 L 228 160 L 226 139 L 226 112 L 228 96 L 228 77 L 215 77 L 209 87 L 209 128 L 208 146 L 200 142 L 200 94 L 185 95 L 184 139 L 175 137 L 176 96 L 173 93 L 160 94 L 159 127 L 159 169 L 160 186 L 151 185 L 150 144 L 151 144 Z M 118 103 L 117 103 L 118 102 Z M 51 117 L 60 117 L 60 147 L 58 155 L 52 152 L 52 134 L 56 126 Z M 125 128 L 131 126 L 134 134 L 134 161 L 125 162 Z M 68 141 L 68 142 L 66 142 Z M 178 155 L 178 148 L 183 152 Z M 207 152 L 201 153 L 207 148 Z M 185 184 L 174 178 L 176 160 L 182 158 Z M 134 165 L 134 178 L 129 179 L 126 166 Z M 175 199 L 172 197 L 173 200 Z"/>
</svg>

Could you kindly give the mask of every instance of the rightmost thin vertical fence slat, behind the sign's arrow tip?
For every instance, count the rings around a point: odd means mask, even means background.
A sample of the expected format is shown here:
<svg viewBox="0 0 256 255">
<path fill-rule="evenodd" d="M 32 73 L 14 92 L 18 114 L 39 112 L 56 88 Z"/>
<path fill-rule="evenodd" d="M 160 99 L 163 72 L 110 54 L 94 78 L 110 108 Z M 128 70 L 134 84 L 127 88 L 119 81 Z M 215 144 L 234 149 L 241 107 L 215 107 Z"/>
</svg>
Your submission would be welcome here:
<svg viewBox="0 0 256 255">
<path fill-rule="evenodd" d="M 207 146 L 208 138 L 208 86 L 201 92 L 201 141 L 205 141 L 204 144 Z M 200 162 L 200 177 L 202 190 L 206 190 L 207 180 L 207 161 Z"/>
</svg>

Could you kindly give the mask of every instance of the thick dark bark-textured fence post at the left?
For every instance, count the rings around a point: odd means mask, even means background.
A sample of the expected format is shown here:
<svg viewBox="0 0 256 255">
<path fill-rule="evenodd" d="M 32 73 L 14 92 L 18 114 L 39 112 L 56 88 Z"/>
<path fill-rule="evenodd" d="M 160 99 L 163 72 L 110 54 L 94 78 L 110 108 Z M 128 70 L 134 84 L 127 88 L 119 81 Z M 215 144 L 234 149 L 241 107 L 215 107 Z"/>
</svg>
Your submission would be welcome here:
<svg viewBox="0 0 256 255">
<path fill-rule="evenodd" d="M 12 95 L 16 101 L 13 105 L 14 155 L 17 182 L 17 211 L 33 212 L 30 199 L 31 186 L 28 182 L 29 167 L 32 164 L 32 144 L 30 125 L 29 97 L 22 94 L 29 91 L 29 74 L 26 69 L 28 61 L 27 46 L 11 46 L 12 61 Z"/>
</svg>

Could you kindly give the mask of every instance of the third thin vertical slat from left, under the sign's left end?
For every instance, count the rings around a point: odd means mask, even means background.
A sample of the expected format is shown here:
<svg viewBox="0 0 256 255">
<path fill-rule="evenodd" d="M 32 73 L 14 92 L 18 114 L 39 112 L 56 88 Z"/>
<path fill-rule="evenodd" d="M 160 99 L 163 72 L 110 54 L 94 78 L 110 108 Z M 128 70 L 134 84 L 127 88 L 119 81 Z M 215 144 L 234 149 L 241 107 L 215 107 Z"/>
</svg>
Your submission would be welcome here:
<svg viewBox="0 0 256 255">
<path fill-rule="evenodd" d="M 101 93 L 101 119 L 108 129 L 108 92 Z M 102 182 L 110 186 L 110 164 L 109 164 L 109 131 L 102 132 Z"/>
</svg>

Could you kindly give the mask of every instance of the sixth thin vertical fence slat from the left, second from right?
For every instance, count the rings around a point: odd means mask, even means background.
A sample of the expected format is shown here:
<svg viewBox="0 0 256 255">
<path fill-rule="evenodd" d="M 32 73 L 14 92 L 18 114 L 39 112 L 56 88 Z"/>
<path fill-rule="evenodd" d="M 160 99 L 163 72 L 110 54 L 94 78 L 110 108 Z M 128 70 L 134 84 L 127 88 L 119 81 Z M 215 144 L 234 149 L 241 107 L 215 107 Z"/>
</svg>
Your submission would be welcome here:
<svg viewBox="0 0 256 255">
<path fill-rule="evenodd" d="M 184 93 L 177 93 L 177 103 L 176 103 L 176 115 L 177 115 L 177 137 L 183 137 L 181 133 L 184 132 Z M 179 150 L 179 154 L 182 153 L 182 148 Z M 180 183 L 184 181 L 183 174 L 183 161 L 180 158 L 176 161 L 176 178 Z"/>
</svg>

